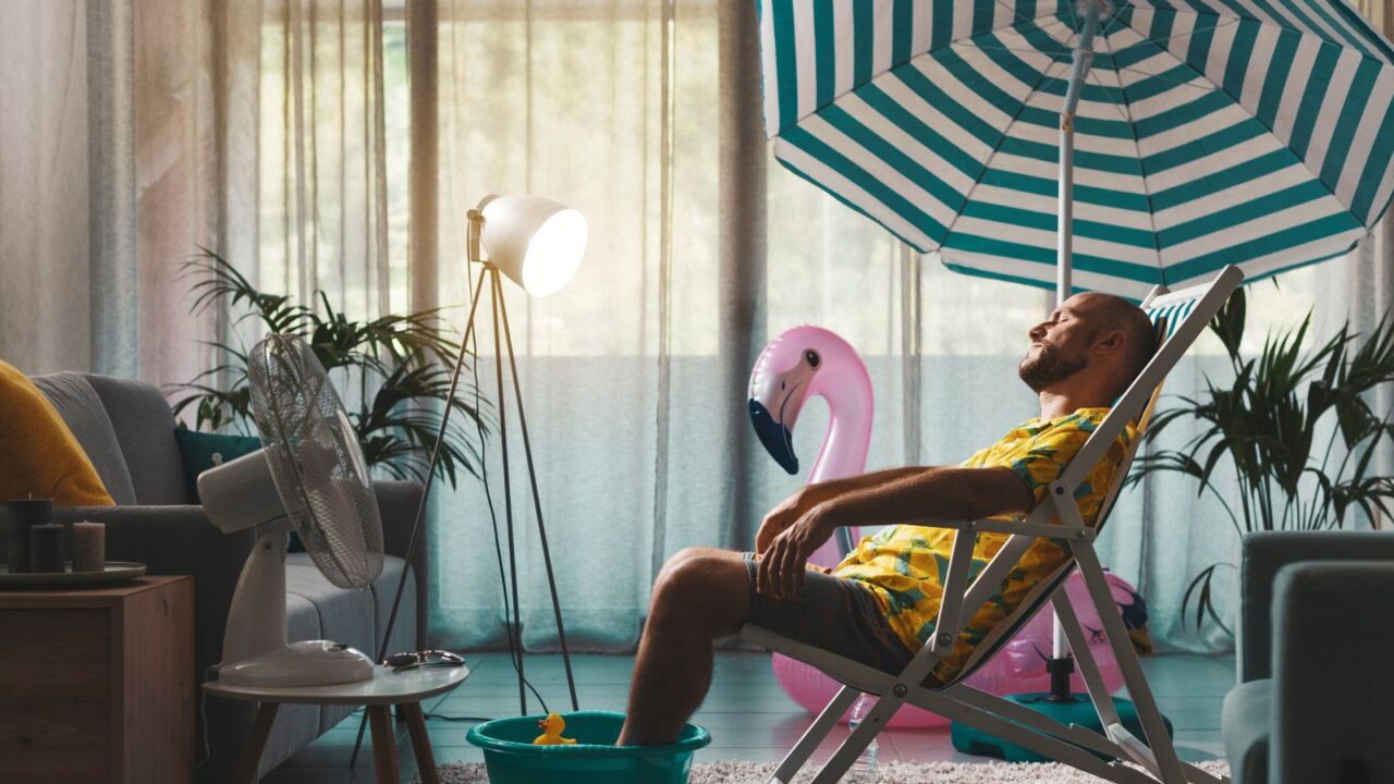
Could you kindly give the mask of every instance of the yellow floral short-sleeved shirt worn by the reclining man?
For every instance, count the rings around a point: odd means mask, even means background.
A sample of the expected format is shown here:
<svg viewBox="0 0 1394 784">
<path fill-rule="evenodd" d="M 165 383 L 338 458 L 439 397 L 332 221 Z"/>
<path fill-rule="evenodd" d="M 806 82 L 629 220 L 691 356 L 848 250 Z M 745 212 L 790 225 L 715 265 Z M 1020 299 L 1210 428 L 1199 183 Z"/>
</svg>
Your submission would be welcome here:
<svg viewBox="0 0 1394 784">
<path fill-rule="evenodd" d="M 963 462 L 965 467 L 1005 466 L 1016 472 L 1039 504 L 1047 485 L 1059 477 L 1089 435 L 1104 420 L 1108 409 L 1079 409 L 1072 414 L 1033 419 L 1013 428 L 1001 441 Z M 1098 506 L 1108 492 L 1108 483 L 1132 442 L 1132 427 L 1118 437 L 1103 459 L 1075 491 L 1080 515 L 1093 525 Z M 1015 516 L 1005 516 L 1012 519 Z M 1019 518 L 1018 518 L 1019 519 Z M 1051 523 L 1058 525 L 1059 518 Z M 1011 534 L 981 532 L 973 548 L 969 582 L 987 566 Z M 834 571 L 841 578 L 860 580 L 877 597 L 881 611 L 896 636 L 910 650 L 919 650 L 934 633 L 938 621 L 944 576 L 953 550 L 953 529 L 926 526 L 887 526 L 875 536 L 861 537 L 857 548 Z M 1037 538 L 1001 587 L 973 615 L 959 633 L 953 650 L 933 670 L 941 682 L 949 682 L 967 661 L 969 654 L 993 628 L 1022 603 L 1032 586 L 1055 571 L 1066 558 L 1065 548 L 1051 538 Z"/>
</svg>

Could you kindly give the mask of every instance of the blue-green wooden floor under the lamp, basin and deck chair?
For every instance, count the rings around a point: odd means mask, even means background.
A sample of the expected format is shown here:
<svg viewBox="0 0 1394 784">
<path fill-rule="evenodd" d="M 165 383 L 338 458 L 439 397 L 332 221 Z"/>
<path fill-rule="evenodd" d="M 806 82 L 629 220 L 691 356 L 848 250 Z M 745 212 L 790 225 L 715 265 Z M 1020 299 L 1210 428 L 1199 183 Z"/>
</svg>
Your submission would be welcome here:
<svg viewBox="0 0 1394 784">
<path fill-rule="evenodd" d="M 467 657 L 471 674 L 454 693 L 428 703 L 428 730 L 438 763 L 482 762 L 482 752 L 470 746 L 464 734 L 473 720 L 447 721 L 441 717 L 517 716 L 517 681 L 506 653 L 475 653 Z M 625 710 L 631 656 L 573 656 L 576 689 L 581 709 Z M 1220 702 L 1234 685 L 1234 657 L 1153 656 L 1143 660 L 1149 682 L 1163 713 L 1175 727 L 1178 752 L 1185 760 L 1223 756 L 1220 744 Z M 560 656 L 530 656 L 528 679 L 555 711 L 570 709 Z M 530 695 L 530 713 L 541 713 Z M 348 769 L 348 756 L 358 728 L 360 714 L 322 735 L 318 741 L 286 760 L 262 781 L 287 783 L 368 783 L 372 776 L 372 752 L 364 744 L 358 767 Z M 763 653 L 723 651 L 717 656 L 717 672 L 707 702 L 693 718 L 707 727 L 712 744 L 697 753 L 696 762 L 746 759 L 776 762 L 799 738 L 811 717 L 781 691 L 769 670 L 769 656 Z M 846 737 L 839 727 L 814 760 L 827 759 L 831 749 Z M 956 760 L 981 757 L 960 755 L 949 744 L 948 730 L 887 730 L 880 735 L 882 760 Z M 399 731 L 401 780 L 415 773 L 406 728 Z"/>
</svg>

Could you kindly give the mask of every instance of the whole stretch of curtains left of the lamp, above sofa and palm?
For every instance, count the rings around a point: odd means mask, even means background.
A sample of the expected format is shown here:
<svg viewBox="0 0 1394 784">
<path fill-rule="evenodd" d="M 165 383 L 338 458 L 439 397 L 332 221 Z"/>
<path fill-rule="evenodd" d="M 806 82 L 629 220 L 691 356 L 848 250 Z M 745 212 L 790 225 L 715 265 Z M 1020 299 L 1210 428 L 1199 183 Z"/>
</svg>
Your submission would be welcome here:
<svg viewBox="0 0 1394 784">
<path fill-rule="evenodd" d="M 351 317 L 406 307 L 400 1 L 6 11 L 0 353 L 188 381 L 216 361 L 199 340 L 226 335 L 188 312 L 180 264 L 197 246 L 305 304 L 322 289 Z"/>
</svg>

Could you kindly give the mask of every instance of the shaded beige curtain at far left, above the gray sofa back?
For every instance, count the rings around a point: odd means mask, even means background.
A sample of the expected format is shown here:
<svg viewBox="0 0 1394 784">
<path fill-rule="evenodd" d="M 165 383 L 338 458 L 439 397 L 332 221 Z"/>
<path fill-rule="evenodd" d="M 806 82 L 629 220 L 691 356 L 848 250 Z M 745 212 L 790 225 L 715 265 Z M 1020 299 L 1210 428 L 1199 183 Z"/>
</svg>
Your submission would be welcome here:
<svg viewBox="0 0 1394 784">
<path fill-rule="evenodd" d="M 206 365 L 177 264 L 209 241 L 204 10 L 17 0 L 0 40 L 0 357 L 166 382 Z"/>
</svg>

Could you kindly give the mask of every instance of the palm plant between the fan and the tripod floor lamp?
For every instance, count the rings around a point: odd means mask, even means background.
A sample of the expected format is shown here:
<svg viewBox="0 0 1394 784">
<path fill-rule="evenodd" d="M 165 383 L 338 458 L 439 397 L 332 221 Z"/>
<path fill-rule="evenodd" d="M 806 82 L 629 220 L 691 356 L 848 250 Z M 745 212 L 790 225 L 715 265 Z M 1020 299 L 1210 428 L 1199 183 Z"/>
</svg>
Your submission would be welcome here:
<svg viewBox="0 0 1394 784">
<path fill-rule="evenodd" d="M 184 264 L 184 273 L 192 280 L 194 312 L 227 308 L 234 333 L 238 325 L 251 321 L 258 333 L 300 335 L 309 343 L 330 378 L 339 379 L 340 396 L 369 469 L 422 481 L 436 446 L 441 416 L 445 406 L 453 406 L 463 417 L 454 417 L 446 431 L 438 476 L 454 487 L 457 472 L 475 474 L 477 439 L 485 432 L 482 406 L 466 384 L 454 398 L 449 393 L 450 368 L 460 345 L 439 310 L 350 319 L 323 292 L 318 292 L 314 306 L 265 293 L 202 247 Z M 184 393 L 173 403 L 174 417 L 192 412 L 194 430 L 251 434 L 247 349 L 236 338 L 209 345 L 219 360 L 187 384 L 173 385 L 176 395 Z"/>
</svg>

